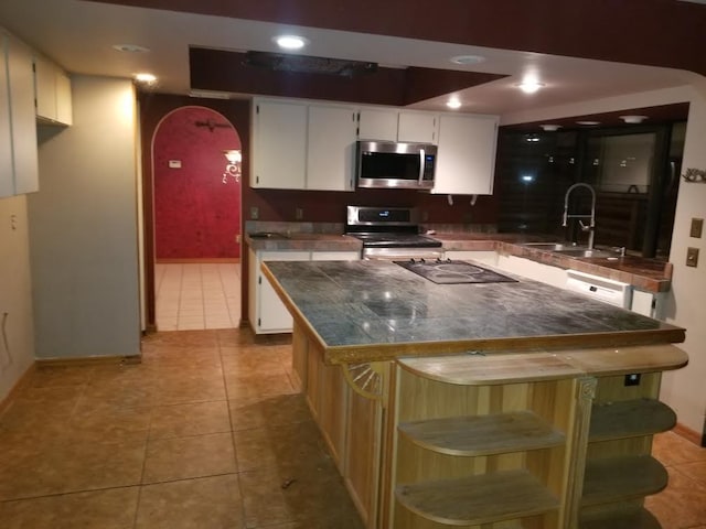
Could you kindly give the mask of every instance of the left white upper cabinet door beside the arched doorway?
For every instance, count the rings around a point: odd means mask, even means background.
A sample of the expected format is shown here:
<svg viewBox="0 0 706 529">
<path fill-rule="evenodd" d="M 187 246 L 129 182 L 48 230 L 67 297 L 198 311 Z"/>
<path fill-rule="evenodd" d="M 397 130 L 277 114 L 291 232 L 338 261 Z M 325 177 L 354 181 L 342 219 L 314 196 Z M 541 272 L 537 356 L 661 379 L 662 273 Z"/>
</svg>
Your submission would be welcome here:
<svg viewBox="0 0 706 529">
<path fill-rule="evenodd" d="M 256 100 L 250 187 L 303 190 L 307 105 Z"/>
</svg>

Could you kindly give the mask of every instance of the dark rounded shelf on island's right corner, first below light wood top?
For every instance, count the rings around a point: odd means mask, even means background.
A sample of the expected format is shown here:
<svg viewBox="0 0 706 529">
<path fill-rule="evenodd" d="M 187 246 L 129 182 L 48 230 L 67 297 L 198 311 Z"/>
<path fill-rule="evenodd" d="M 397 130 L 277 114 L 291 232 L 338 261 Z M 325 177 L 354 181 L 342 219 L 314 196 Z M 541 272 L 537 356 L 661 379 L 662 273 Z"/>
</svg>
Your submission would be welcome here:
<svg viewBox="0 0 706 529">
<path fill-rule="evenodd" d="M 676 424 L 676 413 L 654 399 L 593 404 L 589 442 L 651 435 Z"/>
</svg>

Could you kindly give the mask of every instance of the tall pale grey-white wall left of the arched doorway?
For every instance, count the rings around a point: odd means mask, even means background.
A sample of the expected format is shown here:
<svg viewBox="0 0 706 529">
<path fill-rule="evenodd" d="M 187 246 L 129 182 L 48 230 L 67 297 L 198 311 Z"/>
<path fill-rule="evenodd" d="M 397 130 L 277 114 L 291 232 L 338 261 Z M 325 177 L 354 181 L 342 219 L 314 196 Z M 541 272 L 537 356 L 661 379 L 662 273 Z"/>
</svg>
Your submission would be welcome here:
<svg viewBox="0 0 706 529">
<path fill-rule="evenodd" d="M 72 93 L 74 125 L 40 131 L 28 197 L 36 357 L 138 355 L 132 84 L 74 76 Z"/>
</svg>

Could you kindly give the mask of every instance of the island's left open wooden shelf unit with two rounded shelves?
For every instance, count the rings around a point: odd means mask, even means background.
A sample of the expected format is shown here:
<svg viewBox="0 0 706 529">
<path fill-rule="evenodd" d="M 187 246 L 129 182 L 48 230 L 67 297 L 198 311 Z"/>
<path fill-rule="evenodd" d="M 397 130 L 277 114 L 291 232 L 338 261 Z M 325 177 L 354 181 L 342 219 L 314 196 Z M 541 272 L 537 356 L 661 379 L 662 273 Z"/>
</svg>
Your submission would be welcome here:
<svg viewBox="0 0 706 529">
<path fill-rule="evenodd" d="M 389 527 L 561 528 L 577 380 L 523 366 L 514 382 L 459 384 L 422 365 L 397 363 Z"/>
</svg>

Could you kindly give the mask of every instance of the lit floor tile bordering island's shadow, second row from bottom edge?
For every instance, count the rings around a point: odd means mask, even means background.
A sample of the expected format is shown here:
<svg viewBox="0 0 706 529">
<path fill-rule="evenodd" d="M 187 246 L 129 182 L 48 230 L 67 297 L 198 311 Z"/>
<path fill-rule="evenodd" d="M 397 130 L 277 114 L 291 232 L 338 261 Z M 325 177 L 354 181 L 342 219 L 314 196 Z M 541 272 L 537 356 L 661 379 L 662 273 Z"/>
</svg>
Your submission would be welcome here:
<svg viewBox="0 0 706 529">
<path fill-rule="evenodd" d="M 231 433 L 150 440 L 142 483 L 160 483 L 236 472 Z"/>
</svg>

